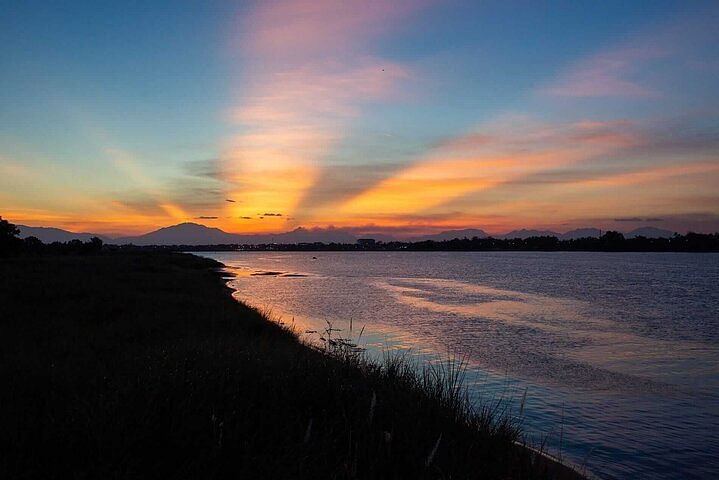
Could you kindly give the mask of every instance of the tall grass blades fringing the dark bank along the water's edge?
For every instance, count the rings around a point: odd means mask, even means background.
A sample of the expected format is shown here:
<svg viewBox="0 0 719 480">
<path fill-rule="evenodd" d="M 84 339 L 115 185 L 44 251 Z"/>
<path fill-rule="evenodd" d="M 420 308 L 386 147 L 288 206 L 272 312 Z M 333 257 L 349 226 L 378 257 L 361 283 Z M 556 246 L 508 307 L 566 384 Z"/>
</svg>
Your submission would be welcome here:
<svg viewBox="0 0 719 480">
<path fill-rule="evenodd" d="M 564 467 L 553 456 L 547 454 L 544 446 L 532 447 L 527 444 L 522 433 L 524 407 L 527 400 L 527 390 L 522 392 L 518 404 L 508 396 L 500 395 L 491 399 L 472 400 L 468 385 L 466 384 L 467 357 L 458 356 L 449 351 L 444 358 L 434 361 L 422 361 L 414 357 L 408 350 L 383 350 L 379 360 L 373 360 L 366 355 L 364 348 L 359 346 L 364 327 L 356 339 L 344 337 L 342 330 L 335 328 L 330 321 L 320 331 L 305 330 L 301 332 L 294 328 L 294 324 L 282 321 L 270 311 L 263 311 L 263 315 L 270 321 L 283 326 L 290 334 L 322 354 L 337 360 L 347 368 L 358 369 L 364 376 L 380 384 L 399 386 L 407 392 L 413 392 L 422 397 L 434 408 L 442 412 L 448 424 L 460 425 L 474 433 L 500 440 L 507 445 L 521 447 L 523 454 L 529 454 L 530 463 L 536 471 L 530 473 L 528 478 L 543 472 L 537 478 L 578 478 L 581 477 L 571 468 Z M 352 331 L 350 323 L 350 333 Z M 304 335 L 303 335 L 304 334 Z M 368 412 L 368 423 L 371 425 L 377 405 L 376 393 L 372 392 Z M 513 407 L 516 407 L 513 409 Z M 310 422 L 311 426 L 311 422 Z M 309 427 L 308 427 L 309 428 Z M 387 445 L 391 444 L 392 434 L 383 432 L 383 439 Z M 429 468 L 437 454 L 443 432 L 440 431 L 432 449 L 425 459 L 425 468 Z M 520 477 L 523 474 L 519 475 Z M 468 477 L 469 478 L 469 477 Z"/>
</svg>

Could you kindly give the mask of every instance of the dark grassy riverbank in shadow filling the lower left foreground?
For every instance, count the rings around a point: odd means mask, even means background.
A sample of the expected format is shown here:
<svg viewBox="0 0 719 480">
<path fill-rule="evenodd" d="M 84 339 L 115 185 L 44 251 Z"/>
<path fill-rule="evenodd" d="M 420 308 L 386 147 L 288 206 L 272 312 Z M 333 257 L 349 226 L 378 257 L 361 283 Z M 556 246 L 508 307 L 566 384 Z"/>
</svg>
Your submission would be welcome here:
<svg viewBox="0 0 719 480">
<path fill-rule="evenodd" d="M 448 378 L 309 348 L 210 260 L 0 259 L 0 478 L 572 478 Z"/>
</svg>

